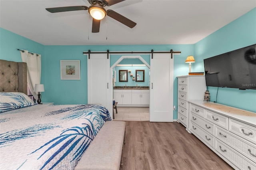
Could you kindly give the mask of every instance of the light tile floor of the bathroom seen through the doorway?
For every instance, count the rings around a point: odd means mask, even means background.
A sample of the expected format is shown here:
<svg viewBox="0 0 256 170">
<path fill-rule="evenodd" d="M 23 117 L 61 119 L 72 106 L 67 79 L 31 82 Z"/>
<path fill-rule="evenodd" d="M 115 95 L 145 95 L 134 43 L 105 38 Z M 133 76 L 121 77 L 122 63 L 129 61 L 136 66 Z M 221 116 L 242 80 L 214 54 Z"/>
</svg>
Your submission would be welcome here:
<svg viewBox="0 0 256 170">
<path fill-rule="evenodd" d="M 113 121 L 149 121 L 149 107 L 118 107 Z"/>
</svg>

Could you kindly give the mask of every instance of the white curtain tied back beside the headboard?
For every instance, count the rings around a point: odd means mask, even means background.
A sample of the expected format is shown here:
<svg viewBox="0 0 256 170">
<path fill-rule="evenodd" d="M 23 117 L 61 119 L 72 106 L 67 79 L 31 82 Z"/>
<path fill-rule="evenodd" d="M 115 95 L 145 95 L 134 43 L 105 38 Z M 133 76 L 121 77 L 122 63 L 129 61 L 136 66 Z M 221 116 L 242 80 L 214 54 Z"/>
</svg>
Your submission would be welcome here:
<svg viewBox="0 0 256 170">
<path fill-rule="evenodd" d="M 24 51 L 24 52 L 23 52 Z M 27 63 L 27 81 L 28 87 L 37 100 L 37 93 L 34 92 L 35 84 L 40 84 L 41 81 L 41 55 L 29 53 L 27 50 L 20 51 L 22 62 Z"/>
</svg>

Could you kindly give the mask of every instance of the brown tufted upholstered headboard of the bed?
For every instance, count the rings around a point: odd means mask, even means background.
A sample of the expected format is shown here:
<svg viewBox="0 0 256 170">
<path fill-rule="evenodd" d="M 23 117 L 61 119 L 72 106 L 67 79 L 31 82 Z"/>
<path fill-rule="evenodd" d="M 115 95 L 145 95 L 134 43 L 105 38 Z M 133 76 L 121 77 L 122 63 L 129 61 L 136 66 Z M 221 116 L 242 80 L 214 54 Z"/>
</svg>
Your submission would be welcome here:
<svg viewBox="0 0 256 170">
<path fill-rule="evenodd" d="M 27 64 L 0 59 L 0 92 L 27 95 Z"/>
</svg>

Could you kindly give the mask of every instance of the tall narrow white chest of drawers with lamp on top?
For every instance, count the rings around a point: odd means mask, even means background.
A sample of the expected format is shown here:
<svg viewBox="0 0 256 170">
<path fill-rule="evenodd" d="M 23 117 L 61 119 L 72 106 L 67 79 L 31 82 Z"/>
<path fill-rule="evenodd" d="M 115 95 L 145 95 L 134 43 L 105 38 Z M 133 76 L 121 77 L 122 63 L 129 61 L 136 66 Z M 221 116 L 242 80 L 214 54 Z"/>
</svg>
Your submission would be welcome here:
<svg viewBox="0 0 256 170">
<path fill-rule="evenodd" d="M 188 100 L 204 100 L 206 91 L 205 77 L 203 75 L 178 76 L 178 123 L 182 123 L 188 130 L 189 104 Z"/>
</svg>

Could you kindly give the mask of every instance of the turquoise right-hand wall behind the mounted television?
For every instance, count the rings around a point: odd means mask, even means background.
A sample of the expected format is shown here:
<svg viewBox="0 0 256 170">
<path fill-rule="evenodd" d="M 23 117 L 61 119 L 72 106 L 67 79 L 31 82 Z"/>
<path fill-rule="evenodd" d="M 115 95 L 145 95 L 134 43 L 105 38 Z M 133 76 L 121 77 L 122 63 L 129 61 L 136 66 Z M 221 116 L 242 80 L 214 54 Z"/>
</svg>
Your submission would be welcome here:
<svg viewBox="0 0 256 170">
<path fill-rule="evenodd" d="M 195 44 L 192 63 L 204 70 L 203 59 L 256 43 L 256 8 Z M 255 75 L 256 76 L 256 75 Z M 211 101 L 256 112 L 256 90 L 208 87 Z M 218 96 L 216 99 L 218 90 Z"/>
</svg>

